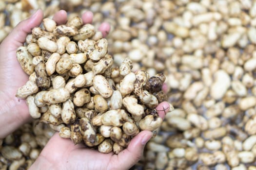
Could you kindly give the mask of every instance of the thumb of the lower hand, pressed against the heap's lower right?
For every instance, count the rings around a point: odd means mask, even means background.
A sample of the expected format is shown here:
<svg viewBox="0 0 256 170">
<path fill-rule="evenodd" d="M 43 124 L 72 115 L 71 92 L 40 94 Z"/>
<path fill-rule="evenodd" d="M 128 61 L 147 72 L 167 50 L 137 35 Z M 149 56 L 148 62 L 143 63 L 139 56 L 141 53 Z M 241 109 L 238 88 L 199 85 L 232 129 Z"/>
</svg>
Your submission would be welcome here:
<svg viewBox="0 0 256 170">
<path fill-rule="evenodd" d="M 131 140 L 128 148 L 118 154 L 118 161 L 120 161 L 124 170 L 128 170 L 140 160 L 144 147 L 152 136 L 153 133 L 150 131 L 141 131 Z"/>
</svg>

